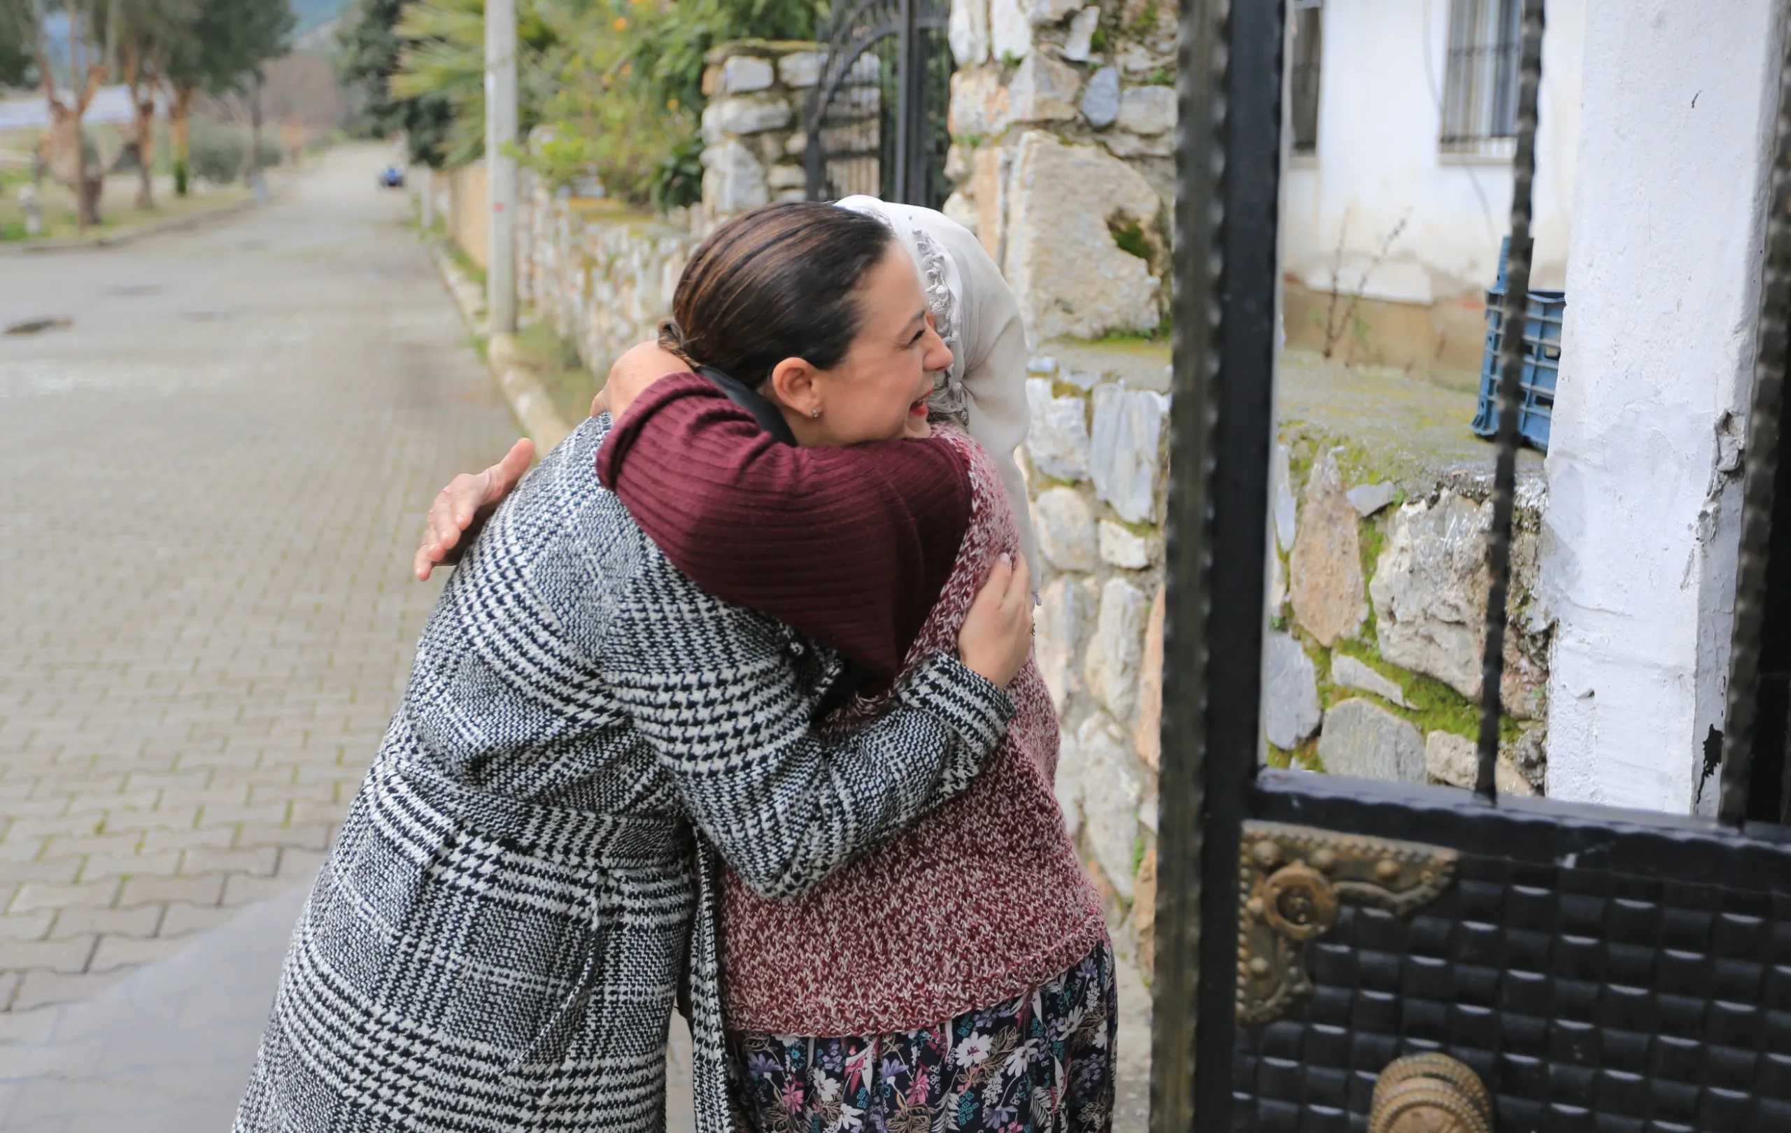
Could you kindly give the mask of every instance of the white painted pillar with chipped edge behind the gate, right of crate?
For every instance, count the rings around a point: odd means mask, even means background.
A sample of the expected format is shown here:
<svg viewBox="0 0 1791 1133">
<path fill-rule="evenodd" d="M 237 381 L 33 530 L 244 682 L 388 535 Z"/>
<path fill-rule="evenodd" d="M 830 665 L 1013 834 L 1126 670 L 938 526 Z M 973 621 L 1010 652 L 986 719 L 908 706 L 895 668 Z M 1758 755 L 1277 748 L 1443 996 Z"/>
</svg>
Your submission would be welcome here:
<svg viewBox="0 0 1791 1133">
<path fill-rule="evenodd" d="M 1712 811 L 1784 0 L 1592 4 L 1542 580 L 1549 795 Z"/>
</svg>

